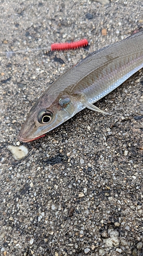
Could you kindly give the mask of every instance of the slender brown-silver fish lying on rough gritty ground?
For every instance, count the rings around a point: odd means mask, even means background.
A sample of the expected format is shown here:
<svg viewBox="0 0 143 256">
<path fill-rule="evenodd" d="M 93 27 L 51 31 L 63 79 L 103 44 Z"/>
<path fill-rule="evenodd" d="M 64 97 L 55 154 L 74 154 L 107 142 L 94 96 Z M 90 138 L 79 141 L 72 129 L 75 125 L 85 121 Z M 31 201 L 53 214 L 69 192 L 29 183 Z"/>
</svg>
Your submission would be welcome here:
<svg viewBox="0 0 143 256">
<path fill-rule="evenodd" d="M 97 50 L 67 70 L 36 101 L 18 135 L 30 142 L 45 136 L 79 111 L 93 105 L 143 68 L 143 31 Z"/>
</svg>

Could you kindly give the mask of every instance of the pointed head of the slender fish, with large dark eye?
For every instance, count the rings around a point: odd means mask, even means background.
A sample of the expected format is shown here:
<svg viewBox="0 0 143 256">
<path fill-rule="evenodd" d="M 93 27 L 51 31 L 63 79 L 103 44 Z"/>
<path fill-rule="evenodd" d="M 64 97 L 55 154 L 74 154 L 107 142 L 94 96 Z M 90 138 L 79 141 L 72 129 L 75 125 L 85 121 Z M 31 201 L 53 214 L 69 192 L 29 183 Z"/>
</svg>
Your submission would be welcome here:
<svg viewBox="0 0 143 256">
<path fill-rule="evenodd" d="M 18 140 L 29 142 L 45 136 L 77 113 L 75 97 L 42 95 L 34 104 L 18 135 Z"/>
</svg>

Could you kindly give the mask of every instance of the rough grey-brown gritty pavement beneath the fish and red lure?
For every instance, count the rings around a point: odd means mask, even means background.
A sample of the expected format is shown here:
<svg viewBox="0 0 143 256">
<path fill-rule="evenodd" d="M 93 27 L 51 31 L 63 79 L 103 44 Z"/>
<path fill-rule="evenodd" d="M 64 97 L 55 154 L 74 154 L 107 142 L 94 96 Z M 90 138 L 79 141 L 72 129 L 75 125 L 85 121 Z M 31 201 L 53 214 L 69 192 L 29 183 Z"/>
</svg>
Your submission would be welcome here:
<svg viewBox="0 0 143 256">
<path fill-rule="evenodd" d="M 141 28 L 142 13 L 141 0 L 4 0 L 1 52 L 82 38 L 92 52 Z M 111 116 L 85 109 L 25 143 L 25 158 L 8 150 L 46 84 L 87 55 L 0 54 L 1 255 L 142 255 L 142 70 L 96 103 Z"/>
</svg>

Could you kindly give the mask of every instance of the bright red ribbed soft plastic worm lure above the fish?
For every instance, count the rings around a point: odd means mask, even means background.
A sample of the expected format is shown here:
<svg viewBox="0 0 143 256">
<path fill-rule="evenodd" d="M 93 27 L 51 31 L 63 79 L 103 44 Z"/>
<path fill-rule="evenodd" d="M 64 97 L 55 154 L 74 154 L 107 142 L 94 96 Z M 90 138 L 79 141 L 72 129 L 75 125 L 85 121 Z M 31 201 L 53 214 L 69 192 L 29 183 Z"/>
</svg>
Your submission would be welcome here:
<svg viewBox="0 0 143 256">
<path fill-rule="evenodd" d="M 63 51 L 63 50 L 72 50 L 80 47 L 87 46 L 88 40 L 82 39 L 76 42 L 61 42 L 60 44 L 52 44 L 51 51 Z"/>
</svg>

